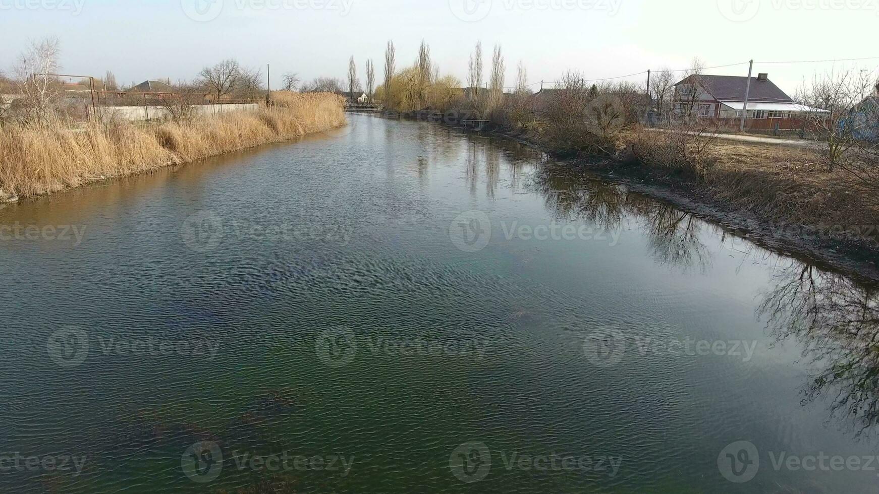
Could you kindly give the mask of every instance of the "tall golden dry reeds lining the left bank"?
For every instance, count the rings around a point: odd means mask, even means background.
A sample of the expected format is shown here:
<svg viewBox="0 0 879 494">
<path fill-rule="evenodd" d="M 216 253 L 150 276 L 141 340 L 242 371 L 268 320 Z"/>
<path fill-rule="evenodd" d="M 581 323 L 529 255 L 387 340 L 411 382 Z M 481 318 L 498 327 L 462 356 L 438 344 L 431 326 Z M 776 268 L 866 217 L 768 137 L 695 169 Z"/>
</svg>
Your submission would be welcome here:
<svg viewBox="0 0 879 494">
<path fill-rule="evenodd" d="M 281 92 L 276 104 L 160 125 L 7 125 L 0 131 L 0 189 L 39 196 L 104 177 L 148 172 L 345 125 L 342 97 Z"/>
</svg>

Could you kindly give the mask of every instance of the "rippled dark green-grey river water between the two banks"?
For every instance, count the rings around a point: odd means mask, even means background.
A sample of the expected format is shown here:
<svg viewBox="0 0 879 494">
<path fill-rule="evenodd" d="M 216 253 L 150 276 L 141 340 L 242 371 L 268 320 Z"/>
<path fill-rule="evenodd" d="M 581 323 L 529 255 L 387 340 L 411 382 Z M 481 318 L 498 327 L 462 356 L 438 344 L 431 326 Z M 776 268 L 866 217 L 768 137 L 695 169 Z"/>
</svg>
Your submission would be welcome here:
<svg viewBox="0 0 879 494">
<path fill-rule="evenodd" d="M 0 490 L 875 492 L 873 287 L 350 119 L 0 210 Z"/>
</svg>

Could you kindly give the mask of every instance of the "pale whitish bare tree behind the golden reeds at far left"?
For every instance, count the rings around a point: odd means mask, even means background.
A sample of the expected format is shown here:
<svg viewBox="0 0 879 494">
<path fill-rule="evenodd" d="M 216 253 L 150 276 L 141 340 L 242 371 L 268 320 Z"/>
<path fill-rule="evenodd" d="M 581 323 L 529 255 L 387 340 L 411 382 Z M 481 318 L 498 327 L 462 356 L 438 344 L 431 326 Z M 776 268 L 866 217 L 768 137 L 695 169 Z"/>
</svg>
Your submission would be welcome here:
<svg viewBox="0 0 879 494">
<path fill-rule="evenodd" d="M 15 75 L 25 105 L 32 112 L 33 122 L 44 125 L 56 115 L 60 100 L 57 78 L 61 43 L 57 38 L 32 41 L 18 58 Z"/>
</svg>

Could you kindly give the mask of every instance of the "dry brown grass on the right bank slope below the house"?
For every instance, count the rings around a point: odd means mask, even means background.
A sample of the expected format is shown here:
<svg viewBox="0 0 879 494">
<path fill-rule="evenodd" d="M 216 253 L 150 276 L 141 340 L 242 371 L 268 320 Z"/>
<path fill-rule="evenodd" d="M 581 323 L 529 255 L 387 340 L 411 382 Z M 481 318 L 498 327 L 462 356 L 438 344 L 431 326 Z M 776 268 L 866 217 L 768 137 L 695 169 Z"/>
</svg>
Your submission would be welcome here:
<svg viewBox="0 0 879 494">
<path fill-rule="evenodd" d="M 627 139 L 636 144 L 644 168 L 659 175 L 684 171 L 677 177 L 691 179 L 694 195 L 752 213 L 767 226 L 808 226 L 821 238 L 879 246 L 879 202 L 870 193 L 879 168 L 855 177 L 842 168 L 828 170 L 808 148 L 710 135 L 642 131 Z"/>
</svg>

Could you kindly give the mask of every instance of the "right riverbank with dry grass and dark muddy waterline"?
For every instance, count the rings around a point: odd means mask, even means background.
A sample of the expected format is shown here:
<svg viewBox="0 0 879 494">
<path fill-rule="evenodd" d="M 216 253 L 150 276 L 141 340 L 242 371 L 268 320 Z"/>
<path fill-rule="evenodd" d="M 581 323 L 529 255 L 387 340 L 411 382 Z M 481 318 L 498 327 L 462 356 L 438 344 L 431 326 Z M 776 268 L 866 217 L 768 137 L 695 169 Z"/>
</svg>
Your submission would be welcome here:
<svg viewBox="0 0 879 494">
<path fill-rule="evenodd" d="M 442 122 L 462 130 L 466 125 Z M 515 140 L 562 159 L 583 175 L 621 183 L 669 202 L 761 247 L 802 257 L 847 276 L 879 282 L 879 211 L 850 188 L 844 171 L 826 171 L 810 150 L 717 140 L 701 176 L 663 168 L 644 154 L 644 133 L 627 132 L 612 158 L 570 158 L 546 146 L 538 132 L 486 125 L 479 132 Z M 641 153 L 624 153 L 633 145 Z"/>
</svg>

